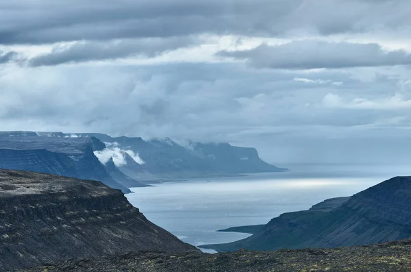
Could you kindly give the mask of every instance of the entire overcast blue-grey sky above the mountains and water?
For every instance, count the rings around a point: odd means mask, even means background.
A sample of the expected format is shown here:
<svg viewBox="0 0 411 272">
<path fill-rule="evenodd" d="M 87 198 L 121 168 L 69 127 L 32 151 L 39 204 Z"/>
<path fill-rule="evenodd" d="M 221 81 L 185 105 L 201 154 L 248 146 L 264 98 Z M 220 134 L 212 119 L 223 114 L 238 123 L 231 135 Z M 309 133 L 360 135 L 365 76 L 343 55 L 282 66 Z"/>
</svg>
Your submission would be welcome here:
<svg viewBox="0 0 411 272">
<path fill-rule="evenodd" d="M 409 0 L 0 1 L 0 130 L 411 164 Z"/>
</svg>

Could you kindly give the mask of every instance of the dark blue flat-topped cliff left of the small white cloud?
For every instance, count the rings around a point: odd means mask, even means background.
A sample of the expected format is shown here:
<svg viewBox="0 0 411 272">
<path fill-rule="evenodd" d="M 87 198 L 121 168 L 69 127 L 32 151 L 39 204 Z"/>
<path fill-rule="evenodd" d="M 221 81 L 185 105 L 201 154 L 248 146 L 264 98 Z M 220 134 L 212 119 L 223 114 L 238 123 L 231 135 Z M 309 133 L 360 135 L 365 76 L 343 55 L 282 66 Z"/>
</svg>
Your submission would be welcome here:
<svg viewBox="0 0 411 272">
<path fill-rule="evenodd" d="M 0 168 L 2 169 L 99 180 L 112 188 L 130 193 L 126 186 L 119 183 L 123 179 L 119 177 L 118 181 L 114 180 L 93 153 L 95 150 L 105 148 L 97 138 L 12 135 L 12 137 L 0 137 Z"/>
</svg>

